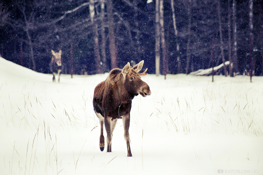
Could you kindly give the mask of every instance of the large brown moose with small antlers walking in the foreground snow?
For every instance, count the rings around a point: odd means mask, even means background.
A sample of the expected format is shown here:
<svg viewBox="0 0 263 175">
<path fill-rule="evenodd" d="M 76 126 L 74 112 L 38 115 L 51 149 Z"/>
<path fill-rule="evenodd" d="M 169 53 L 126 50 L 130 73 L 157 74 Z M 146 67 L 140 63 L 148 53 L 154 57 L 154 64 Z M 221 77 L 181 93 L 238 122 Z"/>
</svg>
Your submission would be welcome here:
<svg viewBox="0 0 263 175">
<path fill-rule="evenodd" d="M 103 125 L 105 125 L 107 133 L 107 152 L 111 152 L 113 130 L 117 120 L 122 119 L 124 139 L 127 144 L 127 156 L 132 156 L 129 135 L 131 100 L 139 94 L 143 97 L 151 95 L 149 86 L 140 77 L 148 74 L 146 73 L 147 68 L 143 73 L 138 73 L 142 69 L 143 64 L 144 60 L 131 67 L 128 62 L 123 69 L 112 69 L 106 80 L 95 87 L 93 108 L 101 127 L 99 143 L 101 151 L 105 147 Z"/>
</svg>

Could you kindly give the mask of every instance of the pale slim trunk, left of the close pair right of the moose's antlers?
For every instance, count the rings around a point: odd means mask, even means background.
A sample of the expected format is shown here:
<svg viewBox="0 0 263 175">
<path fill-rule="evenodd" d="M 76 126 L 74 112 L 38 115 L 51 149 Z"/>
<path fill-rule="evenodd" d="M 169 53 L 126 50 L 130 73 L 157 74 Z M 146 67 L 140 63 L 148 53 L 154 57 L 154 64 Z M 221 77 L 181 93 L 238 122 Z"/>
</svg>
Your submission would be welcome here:
<svg viewBox="0 0 263 175">
<path fill-rule="evenodd" d="M 159 0 L 155 1 L 155 74 L 160 74 L 160 22 Z"/>
</svg>

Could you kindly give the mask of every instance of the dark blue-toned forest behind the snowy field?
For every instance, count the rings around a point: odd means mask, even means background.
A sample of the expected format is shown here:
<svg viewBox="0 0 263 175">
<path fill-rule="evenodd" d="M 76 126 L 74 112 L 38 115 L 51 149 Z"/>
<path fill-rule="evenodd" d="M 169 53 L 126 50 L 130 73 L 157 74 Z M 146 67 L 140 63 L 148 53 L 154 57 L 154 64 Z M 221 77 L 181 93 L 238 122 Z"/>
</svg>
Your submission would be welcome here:
<svg viewBox="0 0 263 175">
<path fill-rule="evenodd" d="M 72 46 L 72 47 L 71 47 Z M 50 73 L 109 72 L 144 60 L 152 74 L 263 75 L 263 0 L 22 0 L 0 2 L 0 55 Z M 212 54 L 212 50 L 213 53 Z"/>
</svg>

